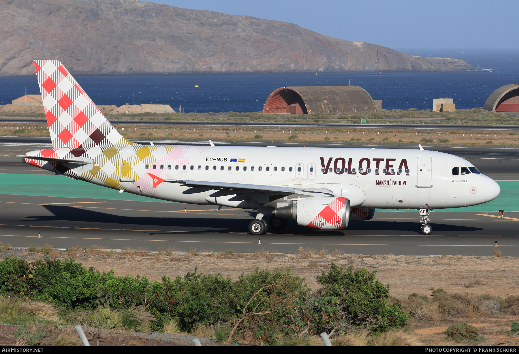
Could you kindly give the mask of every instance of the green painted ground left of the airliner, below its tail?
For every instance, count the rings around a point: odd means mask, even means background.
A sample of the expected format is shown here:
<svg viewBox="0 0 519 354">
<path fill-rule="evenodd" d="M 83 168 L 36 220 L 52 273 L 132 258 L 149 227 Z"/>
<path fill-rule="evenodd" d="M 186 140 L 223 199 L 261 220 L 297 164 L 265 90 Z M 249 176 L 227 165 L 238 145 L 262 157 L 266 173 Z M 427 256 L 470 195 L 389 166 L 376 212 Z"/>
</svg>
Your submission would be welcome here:
<svg viewBox="0 0 519 354">
<path fill-rule="evenodd" d="M 167 202 L 60 175 L 0 173 L 0 186 L 0 194 Z"/>
</svg>

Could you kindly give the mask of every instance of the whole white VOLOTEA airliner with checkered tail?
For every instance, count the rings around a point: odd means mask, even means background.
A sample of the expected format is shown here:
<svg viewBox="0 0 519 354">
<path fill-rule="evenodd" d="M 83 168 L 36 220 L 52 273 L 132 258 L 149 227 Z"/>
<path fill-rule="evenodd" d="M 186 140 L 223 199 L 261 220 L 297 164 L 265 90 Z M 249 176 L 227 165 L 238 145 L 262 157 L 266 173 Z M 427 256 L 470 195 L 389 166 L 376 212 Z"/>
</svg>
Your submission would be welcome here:
<svg viewBox="0 0 519 354">
<path fill-rule="evenodd" d="M 27 164 L 150 198 L 256 211 L 249 233 L 289 220 L 346 229 L 375 209 L 419 210 L 429 235 L 433 209 L 479 205 L 499 185 L 469 161 L 440 152 L 385 148 L 142 145 L 115 129 L 57 60 L 34 60 L 52 148 Z"/>
</svg>

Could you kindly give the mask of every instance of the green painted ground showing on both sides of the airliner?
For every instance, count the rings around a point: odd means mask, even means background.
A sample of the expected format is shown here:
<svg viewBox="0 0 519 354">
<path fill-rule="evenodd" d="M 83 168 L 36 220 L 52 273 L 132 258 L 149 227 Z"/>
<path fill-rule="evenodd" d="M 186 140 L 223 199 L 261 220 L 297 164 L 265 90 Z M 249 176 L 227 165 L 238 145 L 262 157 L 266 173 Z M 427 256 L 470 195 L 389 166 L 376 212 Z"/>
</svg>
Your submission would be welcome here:
<svg viewBox="0 0 519 354">
<path fill-rule="evenodd" d="M 498 182 L 501 194 L 488 203 L 455 209 L 436 209 L 448 211 L 505 211 L 519 210 L 519 181 Z M 0 173 L 0 194 L 20 194 L 46 197 L 95 198 L 116 200 L 161 201 L 130 193 L 117 193 L 117 190 L 96 184 L 77 181 L 59 175 Z M 379 209 L 386 210 L 386 209 Z M 407 210 L 405 210 L 407 211 Z M 409 210 L 416 212 L 416 210 Z"/>
</svg>

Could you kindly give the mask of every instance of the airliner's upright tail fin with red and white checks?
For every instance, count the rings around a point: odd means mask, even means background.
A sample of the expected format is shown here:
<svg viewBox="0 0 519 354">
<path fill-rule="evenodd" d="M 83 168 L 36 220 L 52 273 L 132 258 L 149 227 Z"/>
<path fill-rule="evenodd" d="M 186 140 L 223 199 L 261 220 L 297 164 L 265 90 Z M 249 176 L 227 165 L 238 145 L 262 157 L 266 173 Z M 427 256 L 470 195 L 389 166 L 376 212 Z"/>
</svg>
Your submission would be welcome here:
<svg viewBox="0 0 519 354">
<path fill-rule="evenodd" d="M 34 60 L 52 147 L 101 150 L 133 145 L 99 111 L 58 60 Z"/>
</svg>

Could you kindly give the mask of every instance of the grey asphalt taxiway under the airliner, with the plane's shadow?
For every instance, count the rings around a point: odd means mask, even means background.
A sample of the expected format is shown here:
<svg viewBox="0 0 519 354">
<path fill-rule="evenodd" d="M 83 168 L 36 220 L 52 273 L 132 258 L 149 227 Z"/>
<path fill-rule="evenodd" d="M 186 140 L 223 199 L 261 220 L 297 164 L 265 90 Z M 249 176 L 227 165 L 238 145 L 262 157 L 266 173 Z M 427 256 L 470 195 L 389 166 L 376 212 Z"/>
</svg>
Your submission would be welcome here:
<svg viewBox="0 0 519 354">
<path fill-rule="evenodd" d="M 184 208 L 187 211 L 184 212 Z M 299 247 L 345 253 L 488 256 L 498 242 L 504 256 L 519 256 L 517 217 L 497 213 L 433 212 L 433 236 L 418 233 L 413 212 L 377 211 L 375 218 L 351 222 L 347 230 L 311 230 L 290 222 L 282 232 L 247 234 L 253 212 L 167 202 L 2 195 L 0 238 L 12 246 L 67 248 L 297 252 Z M 41 237 L 38 238 L 38 233 Z"/>
</svg>

